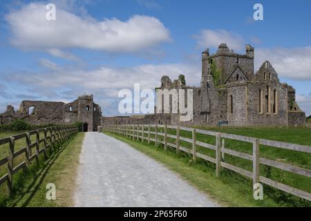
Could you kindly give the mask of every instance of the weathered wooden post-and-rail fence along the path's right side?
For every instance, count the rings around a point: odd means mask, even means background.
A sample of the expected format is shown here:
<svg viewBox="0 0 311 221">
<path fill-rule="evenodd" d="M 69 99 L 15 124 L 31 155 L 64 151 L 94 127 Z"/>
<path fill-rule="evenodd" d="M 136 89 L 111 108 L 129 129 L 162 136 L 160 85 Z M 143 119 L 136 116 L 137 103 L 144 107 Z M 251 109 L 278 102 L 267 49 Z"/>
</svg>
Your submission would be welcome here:
<svg viewBox="0 0 311 221">
<path fill-rule="evenodd" d="M 140 130 L 141 128 L 141 130 Z M 144 128 L 148 128 L 148 130 L 144 130 Z M 153 131 L 151 131 L 151 128 L 153 128 Z M 167 128 L 170 129 L 176 129 L 176 134 L 169 134 Z M 276 169 L 281 169 L 283 171 L 288 171 L 291 173 L 295 173 L 298 175 L 303 175 L 305 177 L 311 177 L 311 171 L 308 169 L 303 169 L 298 166 L 293 166 L 291 164 L 285 164 L 282 162 L 277 162 L 275 160 L 268 160 L 263 157 L 260 157 L 260 145 L 265 146 L 271 146 L 276 148 L 283 148 L 287 150 L 292 151 L 299 151 L 302 153 L 311 153 L 311 146 L 303 146 L 299 144 L 289 144 L 285 142 L 277 142 L 272 140 L 265 140 L 265 139 L 258 139 L 254 137 L 246 137 L 242 135 L 232 135 L 227 133 L 217 133 L 214 131 L 205 131 L 200 129 L 194 129 L 194 128 L 187 128 L 182 126 L 169 126 L 169 125 L 160 125 L 160 124 L 147 124 L 147 125 L 109 125 L 100 127 L 99 131 L 104 132 L 111 132 L 116 133 L 119 135 L 127 136 L 133 140 L 137 138 L 137 140 L 144 141 L 144 134 L 147 133 L 147 139 L 148 143 L 154 142 L 154 144 L 157 146 L 159 143 L 164 144 L 164 149 L 167 149 L 167 146 L 170 146 L 172 148 L 176 148 L 176 153 L 179 154 L 180 151 L 183 151 L 185 153 L 189 153 L 192 155 L 192 158 L 194 161 L 196 161 L 196 158 L 199 157 L 203 160 L 207 160 L 208 162 L 211 162 L 213 164 L 216 164 L 216 175 L 220 175 L 220 171 L 222 168 L 229 169 L 231 171 L 234 171 L 236 173 L 239 173 L 241 175 L 244 175 L 246 177 L 249 177 L 253 180 L 253 185 L 257 183 L 263 183 L 267 184 L 269 186 L 273 186 L 276 189 L 279 189 L 281 191 L 285 191 L 287 193 L 290 193 L 292 195 L 296 195 L 299 198 L 303 198 L 305 200 L 311 201 L 311 193 L 301 191 L 300 189 L 295 189 L 292 186 L 288 186 L 285 184 L 282 184 L 280 182 L 276 182 L 274 180 L 271 180 L 267 177 L 263 177 L 260 175 L 260 165 L 267 165 L 272 166 Z M 126 132 L 125 132 L 126 131 Z M 164 133 L 162 132 L 164 131 Z M 180 131 L 189 131 L 192 133 L 192 138 L 187 137 L 181 137 Z M 141 133 L 141 135 L 140 135 Z M 203 134 L 203 135 L 210 135 L 215 137 L 215 143 L 213 144 L 207 144 L 206 142 L 200 142 L 196 140 L 197 134 Z M 154 135 L 155 138 L 151 138 L 150 135 Z M 162 137 L 162 139 L 159 139 L 159 137 Z M 171 142 L 168 142 L 168 138 L 174 139 L 176 142 L 173 144 Z M 230 139 L 230 140 L 237 140 L 242 142 L 248 142 L 252 144 L 252 155 L 247 153 L 242 153 L 239 151 L 234 151 L 229 148 L 225 148 L 224 140 L 222 139 Z M 180 141 L 187 142 L 191 144 L 191 150 L 189 148 L 186 148 L 184 146 L 180 146 Z M 202 146 L 203 148 L 207 148 L 210 150 L 215 151 L 216 157 L 209 157 L 207 155 L 204 155 L 202 153 L 199 153 L 197 151 L 197 146 Z M 224 154 L 227 155 L 233 155 L 235 157 L 240 157 L 244 160 L 250 160 L 252 161 L 252 172 L 246 171 L 245 169 L 239 168 L 238 166 L 234 166 L 232 164 L 229 164 L 225 162 L 224 160 Z M 310 180 L 311 185 L 311 180 Z"/>
</svg>

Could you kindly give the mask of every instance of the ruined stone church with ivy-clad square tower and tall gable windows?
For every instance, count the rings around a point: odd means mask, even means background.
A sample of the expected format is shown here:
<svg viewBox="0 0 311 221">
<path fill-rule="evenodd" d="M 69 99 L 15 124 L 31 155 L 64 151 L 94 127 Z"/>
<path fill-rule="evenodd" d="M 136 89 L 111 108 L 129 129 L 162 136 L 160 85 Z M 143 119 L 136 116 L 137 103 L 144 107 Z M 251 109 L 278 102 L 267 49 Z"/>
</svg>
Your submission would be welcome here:
<svg viewBox="0 0 311 221">
<path fill-rule="evenodd" d="M 247 44 L 245 55 L 220 44 L 214 55 L 202 52 L 200 87 L 189 87 L 180 79 L 161 79 L 162 89 L 193 89 L 193 125 L 304 126 L 305 113 L 296 104 L 295 90 L 282 84 L 265 61 L 254 73 L 254 48 Z M 178 115 L 171 115 L 178 124 Z"/>
</svg>

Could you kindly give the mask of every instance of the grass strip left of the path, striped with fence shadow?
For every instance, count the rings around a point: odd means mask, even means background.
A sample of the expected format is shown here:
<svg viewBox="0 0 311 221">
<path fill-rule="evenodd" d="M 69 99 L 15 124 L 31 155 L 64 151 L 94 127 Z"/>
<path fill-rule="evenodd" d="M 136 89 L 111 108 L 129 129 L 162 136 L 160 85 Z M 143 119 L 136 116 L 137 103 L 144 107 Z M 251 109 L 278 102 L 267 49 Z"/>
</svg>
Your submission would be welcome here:
<svg viewBox="0 0 311 221">
<path fill-rule="evenodd" d="M 0 206 L 73 206 L 75 177 L 83 140 L 84 133 L 78 133 L 47 161 L 42 156 L 39 166 L 32 164 L 29 170 L 17 174 L 15 193 L 0 199 Z M 48 183 L 56 186 L 56 200 L 46 200 Z"/>
</svg>

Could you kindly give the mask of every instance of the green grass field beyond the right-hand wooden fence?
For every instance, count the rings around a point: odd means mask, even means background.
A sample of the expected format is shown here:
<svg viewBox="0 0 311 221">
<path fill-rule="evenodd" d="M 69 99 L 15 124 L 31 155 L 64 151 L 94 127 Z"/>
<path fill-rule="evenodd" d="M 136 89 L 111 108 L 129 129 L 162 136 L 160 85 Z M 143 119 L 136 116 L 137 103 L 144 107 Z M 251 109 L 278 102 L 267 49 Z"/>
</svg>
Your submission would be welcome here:
<svg viewBox="0 0 311 221">
<path fill-rule="evenodd" d="M 245 135 L 249 137 L 264 138 L 267 140 L 277 140 L 281 142 L 290 142 L 294 144 L 303 144 L 311 146 L 311 129 L 310 128 L 229 128 L 229 127 L 218 127 L 218 128 L 205 128 L 209 131 L 218 131 L 221 133 L 231 133 L 236 135 Z M 147 127 L 144 128 L 147 131 Z M 160 132 L 164 131 L 164 128 L 159 128 Z M 151 130 L 152 131 L 152 130 Z M 154 131 L 154 128 L 153 128 Z M 168 129 L 169 134 L 176 135 L 176 130 Z M 180 131 L 180 136 L 191 138 L 191 132 Z M 151 135 L 154 138 L 154 135 Z M 202 135 L 197 133 L 197 140 L 201 142 L 206 142 L 209 144 L 215 144 L 215 137 L 209 135 Z M 175 143 L 176 140 L 168 138 L 168 142 Z M 188 142 L 180 141 L 180 146 L 186 148 L 191 148 L 191 144 Z M 252 154 L 252 144 L 247 142 L 239 142 L 236 140 L 225 139 L 225 148 L 233 149 L 235 151 L 240 151 L 243 153 Z M 215 157 L 215 151 L 209 150 L 202 146 L 197 146 L 197 151 L 210 157 Z M 276 160 L 279 162 L 285 162 L 288 164 L 293 164 L 305 169 L 311 169 L 311 154 L 301 153 L 297 151 L 290 151 L 281 148 L 274 148 L 271 146 L 260 146 L 260 155 L 270 160 Z M 189 157 L 190 159 L 190 157 Z M 239 157 L 234 157 L 232 155 L 225 155 L 225 162 L 238 166 L 247 171 L 252 171 L 252 162 L 249 160 L 243 160 Z M 206 167 L 213 168 L 213 164 L 207 162 L 200 163 L 204 164 Z M 232 171 L 224 170 L 227 177 L 224 176 L 222 179 L 238 180 L 240 184 L 247 184 L 249 191 L 252 191 L 252 184 L 249 183 L 247 178 L 241 177 L 237 173 Z M 287 171 L 281 171 L 280 169 L 272 168 L 271 166 L 261 165 L 261 175 L 269 177 L 272 180 L 282 182 L 283 184 L 288 184 L 297 189 L 307 191 L 311 193 L 311 179 L 302 175 L 296 175 Z M 237 188 L 239 188 L 237 186 Z M 301 200 L 288 193 L 273 189 L 270 186 L 265 186 L 267 198 L 270 198 L 277 202 L 279 205 L 283 206 L 311 206 L 310 202 L 306 200 Z"/>
</svg>

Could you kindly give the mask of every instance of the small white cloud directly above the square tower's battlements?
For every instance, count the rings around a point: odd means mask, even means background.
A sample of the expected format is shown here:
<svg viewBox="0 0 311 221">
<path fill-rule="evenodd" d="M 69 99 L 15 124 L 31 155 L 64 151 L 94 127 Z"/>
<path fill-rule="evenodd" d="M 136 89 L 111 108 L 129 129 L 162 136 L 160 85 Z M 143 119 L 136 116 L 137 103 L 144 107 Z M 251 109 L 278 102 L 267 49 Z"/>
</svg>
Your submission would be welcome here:
<svg viewBox="0 0 311 221">
<path fill-rule="evenodd" d="M 241 50 L 244 47 L 244 40 L 241 35 L 227 30 L 201 30 L 197 39 L 198 48 L 217 48 L 221 43 L 227 43 L 233 50 Z"/>
</svg>

